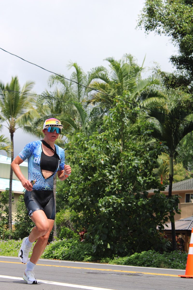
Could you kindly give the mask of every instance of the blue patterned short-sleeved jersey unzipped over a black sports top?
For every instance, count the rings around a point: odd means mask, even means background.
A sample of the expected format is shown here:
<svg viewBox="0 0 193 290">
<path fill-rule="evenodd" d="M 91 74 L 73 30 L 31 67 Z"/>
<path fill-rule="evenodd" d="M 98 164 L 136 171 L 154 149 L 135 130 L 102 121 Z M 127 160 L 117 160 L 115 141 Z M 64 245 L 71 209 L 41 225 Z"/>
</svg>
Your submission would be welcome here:
<svg viewBox="0 0 193 290">
<path fill-rule="evenodd" d="M 36 183 L 33 185 L 33 190 L 53 190 L 53 177 L 58 170 L 64 170 L 65 165 L 65 153 L 64 150 L 55 145 L 56 153 L 60 157 L 60 162 L 58 162 L 58 168 L 48 178 L 44 178 L 41 171 L 41 155 L 42 155 L 42 142 L 40 140 L 30 142 L 23 150 L 18 154 L 19 157 L 24 161 L 28 161 L 28 180 L 35 180 Z"/>
</svg>

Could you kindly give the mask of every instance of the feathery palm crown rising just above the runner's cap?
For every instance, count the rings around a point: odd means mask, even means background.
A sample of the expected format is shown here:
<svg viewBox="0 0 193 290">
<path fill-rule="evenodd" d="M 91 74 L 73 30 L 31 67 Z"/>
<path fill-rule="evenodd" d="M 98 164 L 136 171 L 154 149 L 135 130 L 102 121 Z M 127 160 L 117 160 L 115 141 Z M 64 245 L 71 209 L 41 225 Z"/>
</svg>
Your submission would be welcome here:
<svg viewBox="0 0 193 290">
<path fill-rule="evenodd" d="M 76 62 L 70 62 L 67 67 L 75 69 L 70 77 L 72 82 L 67 81 L 62 75 L 51 75 L 49 77 L 50 86 L 54 84 L 62 86 L 60 98 L 62 104 L 66 102 L 63 112 L 60 112 L 60 121 L 64 125 L 63 132 L 65 131 L 71 136 L 80 131 L 86 135 L 91 135 L 102 121 L 105 112 L 100 108 L 90 108 L 86 105 L 86 102 L 83 102 L 87 97 L 87 86 L 89 81 L 91 81 L 91 73 L 87 76 Z"/>
</svg>

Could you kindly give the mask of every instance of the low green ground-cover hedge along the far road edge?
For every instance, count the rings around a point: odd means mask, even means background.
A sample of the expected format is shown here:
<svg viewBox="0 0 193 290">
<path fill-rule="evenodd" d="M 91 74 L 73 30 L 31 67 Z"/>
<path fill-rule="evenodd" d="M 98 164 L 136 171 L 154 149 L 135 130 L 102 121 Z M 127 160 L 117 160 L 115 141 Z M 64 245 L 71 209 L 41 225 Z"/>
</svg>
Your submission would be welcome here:
<svg viewBox="0 0 193 290">
<path fill-rule="evenodd" d="M 0 240 L 0 255 L 16 257 L 21 242 L 22 240 Z M 30 255 L 31 253 L 32 249 L 30 250 Z M 150 250 L 126 257 L 100 258 L 93 254 L 92 244 L 80 242 L 77 239 L 68 239 L 51 242 L 47 245 L 41 258 L 83 262 L 97 261 L 101 263 L 140 267 L 185 269 L 187 256 L 187 253 L 182 253 L 181 251 L 160 254 Z"/>
</svg>

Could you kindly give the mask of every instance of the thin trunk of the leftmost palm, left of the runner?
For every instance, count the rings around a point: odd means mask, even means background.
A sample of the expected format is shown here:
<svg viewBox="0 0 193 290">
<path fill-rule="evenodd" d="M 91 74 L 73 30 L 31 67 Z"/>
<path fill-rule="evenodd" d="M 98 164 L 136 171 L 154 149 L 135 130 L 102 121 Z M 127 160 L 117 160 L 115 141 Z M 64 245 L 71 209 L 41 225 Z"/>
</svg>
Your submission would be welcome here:
<svg viewBox="0 0 193 290">
<path fill-rule="evenodd" d="M 10 133 L 11 136 L 11 162 L 14 157 L 13 149 L 13 133 Z M 13 180 L 13 169 L 10 166 L 10 177 L 9 177 L 9 230 L 12 230 L 12 180 Z M 9 236 L 11 238 L 11 235 Z"/>
</svg>

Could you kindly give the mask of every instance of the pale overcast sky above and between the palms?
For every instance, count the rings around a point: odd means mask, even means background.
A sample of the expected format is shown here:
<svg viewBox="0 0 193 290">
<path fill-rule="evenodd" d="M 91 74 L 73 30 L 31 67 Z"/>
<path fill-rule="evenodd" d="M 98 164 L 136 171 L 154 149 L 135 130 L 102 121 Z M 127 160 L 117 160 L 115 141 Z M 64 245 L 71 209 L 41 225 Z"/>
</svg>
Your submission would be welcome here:
<svg viewBox="0 0 193 290">
<path fill-rule="evenodd" d="M 6 0 L 1 1 L 0 48 L 47 70 L 70 77 L 69 61 L 77 62 L 85 72 L 106 66 L 106 57 L 121 59 L 133 55 L 147 68 L 158 63 L 171 72 L 169 57 L 176 51 L 170 39 L 153 32 L 146 35 L 136 29 L 144 0 Z M 35 81 L 34 90 L 42 93 L 50 73 L 0 49 L 0 81 L 4 84 L 18 76 L 21 86 Z M 0 134 L 9 136 L 6 129 Z M 21 138 L 22 137 L 22 138 Z M 36 139 L 14 134 L 14 156 Z"/>
</svg>

